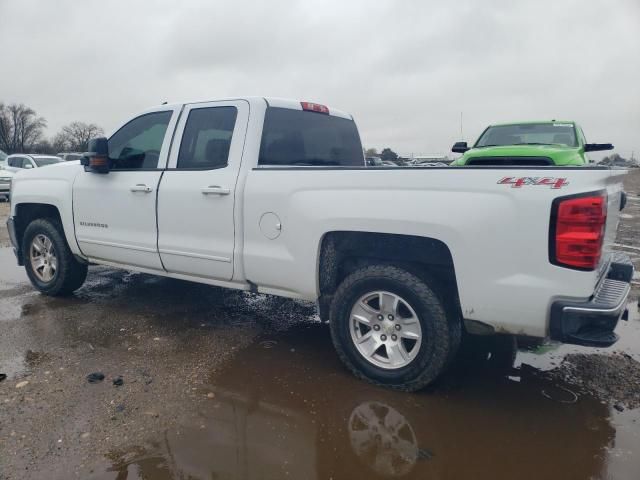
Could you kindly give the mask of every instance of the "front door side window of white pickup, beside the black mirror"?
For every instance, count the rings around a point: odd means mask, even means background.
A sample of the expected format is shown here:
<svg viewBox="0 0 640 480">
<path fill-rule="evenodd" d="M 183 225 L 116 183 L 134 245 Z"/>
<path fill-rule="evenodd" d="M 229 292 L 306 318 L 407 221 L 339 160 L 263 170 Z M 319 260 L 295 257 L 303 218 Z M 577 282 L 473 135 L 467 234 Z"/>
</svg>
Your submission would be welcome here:
<svg viewBox="0 0 640 480">
<path fill-rule="evenodd" d="M 156 168 L 173 112 L 153 112 L 134 118 L 109 139 L 113 170 Z"/>
</svg>

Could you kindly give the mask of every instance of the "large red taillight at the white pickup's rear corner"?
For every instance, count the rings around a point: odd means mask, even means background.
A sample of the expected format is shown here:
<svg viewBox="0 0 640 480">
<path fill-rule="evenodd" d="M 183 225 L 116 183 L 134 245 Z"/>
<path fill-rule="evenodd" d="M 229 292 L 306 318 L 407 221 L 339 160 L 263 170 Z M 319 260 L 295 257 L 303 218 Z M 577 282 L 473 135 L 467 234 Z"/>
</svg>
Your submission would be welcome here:
<svg viewBox="0 0 640 480">
<path fill-rule="evenodd" d="M 551 262 L 564 267 L 595 269 L 602 254 L 607 198 L 604 195 L 561 198 L 556 200 L 554 214 Z"/>
</svg>

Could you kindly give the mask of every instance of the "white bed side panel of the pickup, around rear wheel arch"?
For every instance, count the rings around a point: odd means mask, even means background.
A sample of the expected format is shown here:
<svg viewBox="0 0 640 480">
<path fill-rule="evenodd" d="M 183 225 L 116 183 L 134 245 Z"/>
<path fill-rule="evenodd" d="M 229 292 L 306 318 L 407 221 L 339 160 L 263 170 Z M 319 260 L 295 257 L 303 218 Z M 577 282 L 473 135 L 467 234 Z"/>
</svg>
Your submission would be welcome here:
<svg viewBox="0 0 640 480">
<path fill-rule="evenodd" d="M 603 188 L 615 195 L 618 175 L 587 168 L 253 169 L 243 207 L 245 275 L 267 290 L 315 300 L 326 233 L 430 237 L 451 251 L 465 318 L 545 336 L 552 301 L 588 298 L 598 280 L 598 272 L 549 262 L 552 201 Z M 567 184 L 514 188 L 498 184 L 504 177 L 563 177 Z M 281 222 L 276 239 L 259 226 L 269 212 Z M 617 212 L 609 222 L 611 243 Z"/>
</svg>

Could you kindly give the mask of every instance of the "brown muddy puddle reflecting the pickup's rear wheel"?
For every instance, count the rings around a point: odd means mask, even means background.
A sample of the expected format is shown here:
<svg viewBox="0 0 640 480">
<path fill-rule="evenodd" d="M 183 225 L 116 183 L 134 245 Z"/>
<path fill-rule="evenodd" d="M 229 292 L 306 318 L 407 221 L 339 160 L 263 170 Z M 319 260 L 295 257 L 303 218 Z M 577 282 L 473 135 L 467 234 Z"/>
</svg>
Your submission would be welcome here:
<svg viewBox="0 0 640 480">
<path fill-rule="evenodd" d="M 256 342 L 212 376 L 190 425 L 112 452 L 99 478 L 607 477 L 608 407 L 533 368 L 475 355 L 404 394 L 353 379 L 329 342 L 320 324 Z"/>
</svg>

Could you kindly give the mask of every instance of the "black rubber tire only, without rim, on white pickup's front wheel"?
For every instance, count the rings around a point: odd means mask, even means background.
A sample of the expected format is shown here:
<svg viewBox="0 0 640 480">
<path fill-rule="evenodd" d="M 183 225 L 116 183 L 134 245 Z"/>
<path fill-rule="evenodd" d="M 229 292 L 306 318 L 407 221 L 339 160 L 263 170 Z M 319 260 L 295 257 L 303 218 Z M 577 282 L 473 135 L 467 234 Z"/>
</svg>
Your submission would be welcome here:
<svg viewBox="0 0 640 480">
<path fill-rule="evenodd" d="M 50 281 L 43 281 L 38 277 L 30 260 L 31 243 L 37 235 L 49 238 L 55 251 L 57 269 Z M 87 278 L 87 265 L 80 263 L 73 256 L 64 238 L 62 225 L 54 219 L 39 218 L 27 226 L 22 237 L 22 254 L 29 280 L 45 295 L 69 295 L 80 288 Z"/>
</svg>

